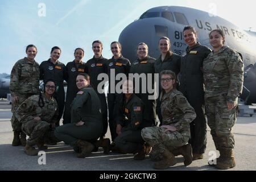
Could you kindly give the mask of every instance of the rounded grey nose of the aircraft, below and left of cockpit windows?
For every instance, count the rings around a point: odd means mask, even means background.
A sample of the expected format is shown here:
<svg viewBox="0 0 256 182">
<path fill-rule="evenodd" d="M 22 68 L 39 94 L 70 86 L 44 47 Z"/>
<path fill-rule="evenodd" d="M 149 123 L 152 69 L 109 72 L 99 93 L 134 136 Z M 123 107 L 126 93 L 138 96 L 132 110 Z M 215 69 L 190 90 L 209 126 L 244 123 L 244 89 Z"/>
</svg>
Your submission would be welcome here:
<svg viewBox="0 0 256 182">
<path fill-rule="evenodd" d="M 119 42 L 122 44 L 122 55 L 132 63 L 137 59 L 139 43 L 146 43 L 150 50 L 150 38 L 154 35 L 154 31 L 154 25 L 146 19 L 139 19 L 129 24 L 119 36 Z M 150 55 L 150 52 L 148 54 Z"/>
</svg>

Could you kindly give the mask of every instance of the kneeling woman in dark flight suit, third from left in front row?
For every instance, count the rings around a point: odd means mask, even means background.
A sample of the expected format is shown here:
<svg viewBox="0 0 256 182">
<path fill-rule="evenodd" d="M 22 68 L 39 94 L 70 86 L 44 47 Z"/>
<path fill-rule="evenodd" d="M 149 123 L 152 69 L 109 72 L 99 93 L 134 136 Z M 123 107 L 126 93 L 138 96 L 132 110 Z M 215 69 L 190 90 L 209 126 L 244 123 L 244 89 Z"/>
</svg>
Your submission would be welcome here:
<svg viewBox="0 0 256 182">
<path fill-rule="evenodd" d="M 144 103 L 133 92 L 133 81 L 123 82 L 125 101 L 123 107 L 119 109 L 116 119 L 118 137 L 114 140 L 115 147 L 112 148 L 112 151 L 115 149 L 124 154 L 138 153 L 134 159 L 142 160 L 150 152 L 150 146 L 144 144 L 141 130 L 144 127 L 152 126 L 152 121 L 146 119 Z"/>
</svg>

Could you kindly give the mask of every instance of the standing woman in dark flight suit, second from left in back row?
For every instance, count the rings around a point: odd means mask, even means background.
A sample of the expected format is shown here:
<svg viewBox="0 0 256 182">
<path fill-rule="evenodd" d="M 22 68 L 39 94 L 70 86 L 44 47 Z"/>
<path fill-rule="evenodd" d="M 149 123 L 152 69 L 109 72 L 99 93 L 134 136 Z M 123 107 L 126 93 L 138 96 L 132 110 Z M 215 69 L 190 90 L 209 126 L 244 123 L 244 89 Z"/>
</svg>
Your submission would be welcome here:
<svg viewBox="0 0 256 182">
<path fill-rule="evenodd" d="M 56 99 L 59 108 L 59 118 L 56 126 L 60 125 L 60 118 L 62 117 L 64 104 L 65 104 L 65 92 L 63 81 L 67 81 L 67 68 L 63 63 L 58 60 L 61 54 L 61 49 L 57 46 L 51 49 L 51 58 L 47 61 L 43 61 L 40 64 L 40 80 L 55 80 L 59 90 L 53 95 Z"/>
</svg>

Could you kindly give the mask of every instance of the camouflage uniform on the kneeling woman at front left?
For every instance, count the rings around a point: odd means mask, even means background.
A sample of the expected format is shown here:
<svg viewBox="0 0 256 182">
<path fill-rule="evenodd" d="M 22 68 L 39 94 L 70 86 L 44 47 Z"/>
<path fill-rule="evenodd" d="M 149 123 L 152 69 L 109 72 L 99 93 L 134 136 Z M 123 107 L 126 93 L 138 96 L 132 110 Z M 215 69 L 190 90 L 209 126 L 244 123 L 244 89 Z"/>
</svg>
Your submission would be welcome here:
<svg viewBox="0 0 256 182">
<path fill-rule="evenodd" d="M 39 95 L 34 95 L 27 98 L 18 107 L 15 112 L 15 117 L 22 123 L 22 131 L 30 138 L 27 139 L 27 144 L 33 146 L 50 130 L 51 123 L 56 123 L 58 117 L 57 102 L 55 98 L 50 100 L 42 94 L 44 106 L 39 106 Z M 35 121 L 35 117 L 40 117 L 41 121 Z"/>
</svg>

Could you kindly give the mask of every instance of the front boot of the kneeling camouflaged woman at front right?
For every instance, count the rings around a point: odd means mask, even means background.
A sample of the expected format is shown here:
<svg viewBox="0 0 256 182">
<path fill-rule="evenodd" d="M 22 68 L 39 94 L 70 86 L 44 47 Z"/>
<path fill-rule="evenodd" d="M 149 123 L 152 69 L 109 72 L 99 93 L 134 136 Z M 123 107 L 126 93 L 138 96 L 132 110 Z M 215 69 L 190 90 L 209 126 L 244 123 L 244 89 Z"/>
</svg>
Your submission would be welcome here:
<svg viewBox="0 0 256 182">
<path fill-rule="evenodd" d="M 168 150 L 162 152 L 163 158 L 159 162 L 154 164 L 155 169 L 167 169 L 170 166 L 174 166 L 177 162 L 174 154 Z"/>
</svg>

